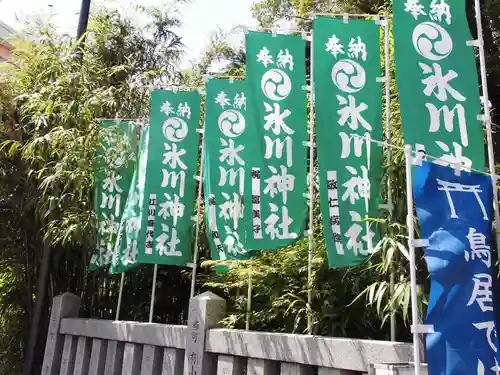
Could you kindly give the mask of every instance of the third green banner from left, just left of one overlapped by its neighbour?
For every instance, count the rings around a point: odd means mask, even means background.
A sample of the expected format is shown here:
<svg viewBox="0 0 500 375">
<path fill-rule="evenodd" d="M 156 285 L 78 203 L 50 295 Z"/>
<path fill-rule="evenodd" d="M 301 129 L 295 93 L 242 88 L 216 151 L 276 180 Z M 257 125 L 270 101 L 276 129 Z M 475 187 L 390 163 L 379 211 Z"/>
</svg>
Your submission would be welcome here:
<svg viewBox="0 0 500 375">
<path fill-rule="evenodd" d="M 143 225 L 138 263 L 185 266 L 192 262 L 192 222 L 199 150 L 200 95 L 154 91 Z M 145 224 L 144 224 L 145 223 Z"/>
</svg>

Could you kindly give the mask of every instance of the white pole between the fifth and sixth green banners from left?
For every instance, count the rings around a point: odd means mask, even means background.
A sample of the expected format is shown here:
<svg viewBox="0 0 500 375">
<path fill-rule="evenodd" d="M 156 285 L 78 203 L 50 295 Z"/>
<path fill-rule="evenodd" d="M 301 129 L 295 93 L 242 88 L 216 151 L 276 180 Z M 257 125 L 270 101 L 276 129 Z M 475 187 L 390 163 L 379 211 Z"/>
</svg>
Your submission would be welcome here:
<svg viewBox="0 0 500 375">
<path fill-rule="evenodd" d="M 311 30 L 309 58 L 310 109 L 309 109 L 309 246 L 307 251 L 307 333 L 312 334 L 312 257 L 314 240 L 314 30 Z"/>
</svg>

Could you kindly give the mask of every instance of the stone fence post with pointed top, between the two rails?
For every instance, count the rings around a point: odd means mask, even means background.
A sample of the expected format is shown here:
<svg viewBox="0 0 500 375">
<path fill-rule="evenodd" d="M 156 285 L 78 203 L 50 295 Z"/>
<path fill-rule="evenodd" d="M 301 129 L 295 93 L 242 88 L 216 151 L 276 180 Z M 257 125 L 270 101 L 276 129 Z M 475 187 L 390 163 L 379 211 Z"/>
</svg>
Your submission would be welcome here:
<svg viewBox="0 0 500 375">
<path fill-rule="evenodd" d="M 216 375 L 217 358 L 205 353 L 205 336 L 207 330 L 218 327 L 225 311 L 226 301 L 212 292 L 189 301 L 184 375 Z"/>
</svg>

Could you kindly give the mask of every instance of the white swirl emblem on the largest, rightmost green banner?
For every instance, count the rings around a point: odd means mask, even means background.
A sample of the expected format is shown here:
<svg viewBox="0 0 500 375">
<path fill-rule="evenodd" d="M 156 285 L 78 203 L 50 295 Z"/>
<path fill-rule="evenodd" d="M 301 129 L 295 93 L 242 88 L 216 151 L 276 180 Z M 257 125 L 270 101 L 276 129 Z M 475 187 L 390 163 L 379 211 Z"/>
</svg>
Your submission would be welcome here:
<svg viewBox="0 0 500 375">
<path fill-rule="evenodd" d="M 415 27 L 412 39 L 417 52 L 432 61 L 448 57 L 453 50 L 450 34 L 434 22 L 422 22 Z"/>
</svg>

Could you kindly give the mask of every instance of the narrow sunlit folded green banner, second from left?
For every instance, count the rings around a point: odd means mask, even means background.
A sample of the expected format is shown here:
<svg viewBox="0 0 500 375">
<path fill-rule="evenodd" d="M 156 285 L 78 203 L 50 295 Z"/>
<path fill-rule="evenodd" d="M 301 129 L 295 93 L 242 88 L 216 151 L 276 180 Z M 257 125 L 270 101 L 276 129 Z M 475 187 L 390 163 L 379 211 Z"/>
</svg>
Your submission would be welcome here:
<svg viewBox="0 0 500 375">
<path fill-rule="evenodd" d="M 138 164 L 130 183 L 127 203 L 118 229 L 118 238 L 115 242 L 114 256 L 111 262 L 110 273 L 126 272 L 137 265 L 141 231 L 146 230 L 145 214 L 142 210 L 145 202 L 144 186 L 146 185 L 146 167 L 148 163 L 149 127 L 142 128 L 139 146 Z"/>
</svg>

